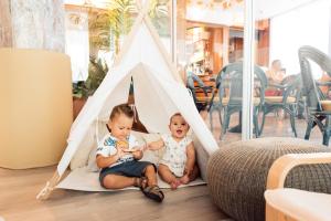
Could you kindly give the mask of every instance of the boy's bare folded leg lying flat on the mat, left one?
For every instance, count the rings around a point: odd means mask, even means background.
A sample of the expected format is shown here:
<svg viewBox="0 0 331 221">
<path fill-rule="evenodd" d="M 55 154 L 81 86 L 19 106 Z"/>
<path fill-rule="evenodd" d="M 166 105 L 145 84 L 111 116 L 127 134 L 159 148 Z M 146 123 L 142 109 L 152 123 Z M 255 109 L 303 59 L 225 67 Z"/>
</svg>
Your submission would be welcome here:
<svg viewBox="0 0 331 221">
<path fill-rule="evenodd" d="M 119 175 L 107 175 L 104 180 L 103 185 L 107 189 L 122 189 L 126 187 L 131 187 L 135 185 L 134 177 L 125 177 Z"/>
</svg>

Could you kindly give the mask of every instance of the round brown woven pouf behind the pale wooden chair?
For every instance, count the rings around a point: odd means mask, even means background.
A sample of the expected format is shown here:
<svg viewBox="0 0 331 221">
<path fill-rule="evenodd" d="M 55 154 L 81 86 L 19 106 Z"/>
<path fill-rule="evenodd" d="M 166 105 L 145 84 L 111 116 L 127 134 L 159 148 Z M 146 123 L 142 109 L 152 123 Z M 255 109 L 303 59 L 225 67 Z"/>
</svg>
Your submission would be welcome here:
<svg viewBox="0 0 331 221">
<path fill-rule="evenodd" d="M 331 149 L 297 138 L 259 138 L 222 147 L 209 160 L 207 182 L 217 207 L 235 220 L 265 220 L 267 175 L 282 155 Z M 285 187 L 331 193 L 331 165 L 293 168 Z"/>
</svg>

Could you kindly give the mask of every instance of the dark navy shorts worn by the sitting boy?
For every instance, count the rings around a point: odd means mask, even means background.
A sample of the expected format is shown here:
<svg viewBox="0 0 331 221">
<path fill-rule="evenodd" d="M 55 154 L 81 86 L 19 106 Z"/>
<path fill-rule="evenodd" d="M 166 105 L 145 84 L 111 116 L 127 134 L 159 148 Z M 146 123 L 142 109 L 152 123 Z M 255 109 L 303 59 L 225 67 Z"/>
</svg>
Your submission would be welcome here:
<svg viewBox="0 0 331 221">
<path fill-rule="evenodd" d="M 102 169 L 100 175 L 99 175 L 100 185 L 104 187 L 104 178 L 107 175 L 121 175 L 121 176 L 126 176 L 126 177 L 142 177 L 145 173 L 146 167 L 149 165 L 152 165 L 154 167 L 154 170 L 157 171 L 157 167 L 152 162 L 137 161 L 137 160 L 122 162 L 120 165 L 117 165 L 117 166 L 110 167 L 110 168 L 109 167 L 104 168 L 104 169 Z"/>
</svg>

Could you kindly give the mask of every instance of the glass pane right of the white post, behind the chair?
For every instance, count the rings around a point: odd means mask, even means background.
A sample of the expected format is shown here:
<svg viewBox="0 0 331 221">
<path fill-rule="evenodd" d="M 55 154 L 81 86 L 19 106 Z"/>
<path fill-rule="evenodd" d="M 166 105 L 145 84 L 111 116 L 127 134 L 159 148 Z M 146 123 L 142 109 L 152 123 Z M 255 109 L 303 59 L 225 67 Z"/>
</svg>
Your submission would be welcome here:
<svg viewBox="0 0 331 221">
<path fill-rule="evenodd" d="M 331 2 L 257 1 L 255 63 L 265 71 L 267 87 L 261 106 L 260 136 L 303 138 L 307 129 L 307 83 L 301 80 L 299 49 L 313 46 L 330 55 Z M 312 64 L 318 91 L 329 99 L 331 77 Z M 313 127 L 310 138 L 322 143 L 322 134 Z"/>
</svg>

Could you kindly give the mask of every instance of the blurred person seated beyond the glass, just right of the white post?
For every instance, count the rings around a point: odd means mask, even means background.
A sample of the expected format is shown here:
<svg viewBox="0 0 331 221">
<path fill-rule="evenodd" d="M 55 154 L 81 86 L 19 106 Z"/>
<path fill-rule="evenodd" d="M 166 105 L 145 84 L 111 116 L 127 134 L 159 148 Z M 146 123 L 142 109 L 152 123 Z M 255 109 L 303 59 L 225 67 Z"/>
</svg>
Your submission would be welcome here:
<svg viewBox="0 0 331 221">
<path fill-rule="evenodd" d="M 281 92 L 273 87 L 273 84 L 280 84 L 284 80 L 285 74 L 285 69 L 281 67 L 280 60 L 274 60 L 271 62 L 270 69 L 266 72 L 268 84 L 271 85 L 270 88 L 266 90 L 266 96 L 281 96 Z"/>
</svg>

